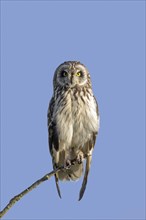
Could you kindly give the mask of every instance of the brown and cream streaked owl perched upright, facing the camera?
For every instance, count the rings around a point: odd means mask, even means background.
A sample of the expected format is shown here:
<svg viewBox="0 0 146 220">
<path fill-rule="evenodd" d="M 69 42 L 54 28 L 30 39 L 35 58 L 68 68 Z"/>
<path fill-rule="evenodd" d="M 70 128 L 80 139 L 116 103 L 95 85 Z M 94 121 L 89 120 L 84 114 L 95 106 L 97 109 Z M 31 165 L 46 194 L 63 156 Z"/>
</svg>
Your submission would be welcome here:
<svg viewBox="0 0 146 220">
<path fill-rule="evenodd" d="M 62 63 L 54 73 L 53 97 L 48 108 L 48 139 L 53 168 L 65 166 L 55 174 L 58 195 L 59 180 L 75 181 L 85 173 L 79 200 L 82 199 L 92 152 L 99 130 L 98 104 L 93 95 L 90 74 L 78 61 Z M 76 163 L 71 166 L 71 162 Z"/>
</svg>

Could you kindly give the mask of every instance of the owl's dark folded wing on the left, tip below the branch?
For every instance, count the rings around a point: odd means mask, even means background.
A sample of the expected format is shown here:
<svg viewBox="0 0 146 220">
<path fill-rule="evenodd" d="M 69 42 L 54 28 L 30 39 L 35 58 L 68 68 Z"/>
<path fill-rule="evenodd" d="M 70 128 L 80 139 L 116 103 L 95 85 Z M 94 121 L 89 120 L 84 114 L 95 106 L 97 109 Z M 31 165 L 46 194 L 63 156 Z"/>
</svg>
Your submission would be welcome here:
<svg viewBox="0 0 146 220">
<path fill-rule="evenodd" d="M 58 135 L 57 135 L 57 129 L 56 129 L 56 124 L 53 121 L 53 112 L 54 112 L 54 106 L 55 106 L 55 101 L 54 97 L 52 97 L 50 104 L 49 104 L 49 109 L 48 109 L 48 136 L 49 136 L 49 149 L 50 149 L 50 154 L 52 156 L 52 163 L 53 163 L 53 169 L 55 170 L 55 164 L 53 160 L 53 148 L 58 151 L 59 150 L 59 140 L 58 140 Z M 55 183 L 56 183 L 56 188 L 59 197 L 61 198 L 61 192 L 59 188 L 59 183 L 58 183 L 58 176 L 55 174 Z"/>
</svg>

